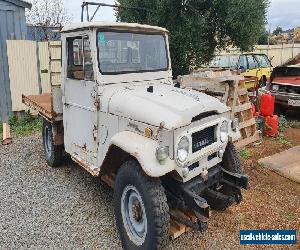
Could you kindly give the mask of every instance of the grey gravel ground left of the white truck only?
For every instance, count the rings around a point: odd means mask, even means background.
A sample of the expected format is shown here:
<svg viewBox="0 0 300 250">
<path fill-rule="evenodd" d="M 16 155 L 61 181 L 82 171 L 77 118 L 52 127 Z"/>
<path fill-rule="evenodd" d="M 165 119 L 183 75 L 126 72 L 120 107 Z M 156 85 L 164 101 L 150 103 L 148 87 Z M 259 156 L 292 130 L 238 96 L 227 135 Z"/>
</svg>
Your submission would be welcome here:
<svg viewBox="0 0 300 250">
<path fill-rule="evenodd" d="M 0 248 L 119 249 L 112 192 L 76 164 L 49 168 L 40 138 L 0 146 Z"/>
</svg>

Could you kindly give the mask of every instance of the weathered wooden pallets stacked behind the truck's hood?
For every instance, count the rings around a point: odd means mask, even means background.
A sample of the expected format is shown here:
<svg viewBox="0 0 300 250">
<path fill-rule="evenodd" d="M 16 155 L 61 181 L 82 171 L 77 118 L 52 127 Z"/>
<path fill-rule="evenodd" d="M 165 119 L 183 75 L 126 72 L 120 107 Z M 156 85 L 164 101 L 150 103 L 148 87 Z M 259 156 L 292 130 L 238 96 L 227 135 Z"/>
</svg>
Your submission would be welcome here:
<svg viewBox="0 0 300 250">
<path fill-rule="evenodd" d="M 191 75 L 179 76 L 182 88 L 192 88 L 218 98 L 231 108 L 231 119 L 238 118 L 242 138 L 235 142 L 237 148 L 260 139 L 251 102 L 243 76 L 231 70 L 200 70 Z"/>
</svg>

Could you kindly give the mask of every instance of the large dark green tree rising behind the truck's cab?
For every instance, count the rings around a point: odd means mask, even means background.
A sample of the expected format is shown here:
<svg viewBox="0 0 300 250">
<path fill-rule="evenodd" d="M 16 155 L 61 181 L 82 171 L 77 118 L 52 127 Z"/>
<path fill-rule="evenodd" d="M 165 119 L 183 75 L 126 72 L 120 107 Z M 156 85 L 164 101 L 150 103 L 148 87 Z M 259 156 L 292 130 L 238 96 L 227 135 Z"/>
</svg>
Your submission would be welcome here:
<svg viewBox="0 0 300 250">
<path fill-rule="evenodd" d="M 158 25 L 170 32 L 174 75 L 210 61 L 216 48 L 251 49 L 266 21 L 268 0 L 119 0 L 122 22 Z"/>
</svg>

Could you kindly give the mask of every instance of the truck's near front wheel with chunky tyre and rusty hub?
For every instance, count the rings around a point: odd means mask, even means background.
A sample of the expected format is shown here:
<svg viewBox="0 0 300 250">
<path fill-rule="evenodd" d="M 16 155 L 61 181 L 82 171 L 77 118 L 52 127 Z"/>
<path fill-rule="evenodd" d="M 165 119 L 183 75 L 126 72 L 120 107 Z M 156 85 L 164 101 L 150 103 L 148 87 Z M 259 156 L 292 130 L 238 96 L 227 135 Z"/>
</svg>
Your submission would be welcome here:
<svg viewBox="0 0 300 250">
<path fill-rule="evenodd" d="M 169 237 L 169 207 L 160 179 L 125 162 L 115 181 L 114 209 L 124 249 L 160 249 Z"/>
</svg>

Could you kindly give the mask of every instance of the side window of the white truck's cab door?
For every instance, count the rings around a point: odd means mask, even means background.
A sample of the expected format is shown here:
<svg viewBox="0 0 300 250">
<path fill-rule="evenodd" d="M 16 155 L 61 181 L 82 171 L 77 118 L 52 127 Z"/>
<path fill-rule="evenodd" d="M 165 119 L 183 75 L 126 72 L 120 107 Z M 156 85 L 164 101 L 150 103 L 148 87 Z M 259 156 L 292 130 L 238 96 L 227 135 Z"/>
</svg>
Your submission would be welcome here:
<svg viewBox="0 0 300 250">
<path fill-rule="evenodd" d="M 94 80 L 92 53 L 88 37 L 67 38 L 67 77 L 76 80 Z"/>
</svg>

